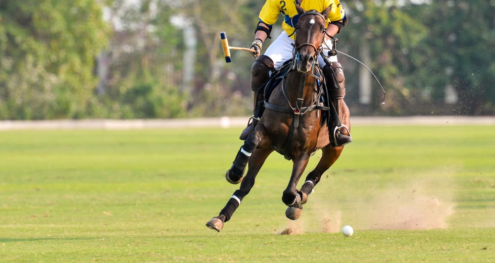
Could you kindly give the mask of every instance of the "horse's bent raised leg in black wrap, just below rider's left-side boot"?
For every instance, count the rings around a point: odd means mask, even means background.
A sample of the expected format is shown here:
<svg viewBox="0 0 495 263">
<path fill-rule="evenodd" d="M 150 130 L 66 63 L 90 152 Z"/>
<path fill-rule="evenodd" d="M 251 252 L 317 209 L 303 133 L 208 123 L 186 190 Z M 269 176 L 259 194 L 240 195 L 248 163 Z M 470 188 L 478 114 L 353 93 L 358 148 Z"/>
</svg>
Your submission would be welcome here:
<svg viewBox="0 0 495 263">
<path fill-rule="evenodd" d="M 252 153 L 258 146 L 262 138 L 262 132 L 256 131 L 247 137 L 244 141 L 244 145 L 237 152 L 236 158 L 232 163 L 230 169 L 225 173 L 225 179 L 231 184 L 238 184 L 243 180 L 244 170 L 246 169 L 247 162 L 251 158 Z"/>
</svg>

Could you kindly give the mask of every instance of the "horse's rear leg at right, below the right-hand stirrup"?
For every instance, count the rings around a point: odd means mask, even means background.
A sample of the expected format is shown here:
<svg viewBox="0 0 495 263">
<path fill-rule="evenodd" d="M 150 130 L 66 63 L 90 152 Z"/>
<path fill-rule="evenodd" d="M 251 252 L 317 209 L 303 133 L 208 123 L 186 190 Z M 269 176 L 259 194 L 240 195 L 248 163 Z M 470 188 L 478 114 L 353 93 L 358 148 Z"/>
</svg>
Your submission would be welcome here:
<svg viewBox="0 0 495 263">
<path fill-rule="evenodd" d="M 332 166 L 335 161 L 339 158 L 344 146 L 341 147 L 331 147 L 330 145 L 322 149 L 322 157 L 316 165 L 316 167 L 308 173 L 306 176 L 306 181 L 301 186 L 300 191 L 303 193 L 303 199 L 307 200 L 307 196 L 313 191 L 314 186 L 320 181 L 323 173 Z"/>
</svg>

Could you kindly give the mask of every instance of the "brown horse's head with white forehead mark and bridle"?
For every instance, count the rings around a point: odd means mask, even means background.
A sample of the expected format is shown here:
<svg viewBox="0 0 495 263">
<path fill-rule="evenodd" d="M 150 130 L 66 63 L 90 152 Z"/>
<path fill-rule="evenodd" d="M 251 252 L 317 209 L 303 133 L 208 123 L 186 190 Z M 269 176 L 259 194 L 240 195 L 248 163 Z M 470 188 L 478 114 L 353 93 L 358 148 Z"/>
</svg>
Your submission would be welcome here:
<svg viewBox="0 0 495 263">
<path fill-rule="evenodd" d="M 332 6 L 327 7 L 321 13 L 316 10 L 306 12 L 298 5 L 296 8 L 299 20 L 295 29 L 295 66 L 298 72 L 306 74 L 313 69 L 317 62 L 318 54 L 323 49 L 322 44 L 325 40 L 327 24 L 326 17 L 330 13 Z"/>
</svg>

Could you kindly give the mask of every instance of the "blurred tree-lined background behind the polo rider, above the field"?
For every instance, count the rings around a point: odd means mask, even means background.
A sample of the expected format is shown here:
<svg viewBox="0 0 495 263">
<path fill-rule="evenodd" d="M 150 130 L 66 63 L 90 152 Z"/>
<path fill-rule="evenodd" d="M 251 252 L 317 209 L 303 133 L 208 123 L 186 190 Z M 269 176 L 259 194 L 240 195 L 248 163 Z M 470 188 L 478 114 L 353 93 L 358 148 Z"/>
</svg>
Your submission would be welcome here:
<svg viewBox="0 0 495 263">
<path fill-rule="evenodd" d="M 495 0 L 349 0 L 352 115 L 493 115 Z M 0 0 L 0 119 L 247 116 L 264 0 Z M 281 32 L 282 18 L 272 36 Z M 264 48 L 269 45 L 265 43 Z"/>
</svg>

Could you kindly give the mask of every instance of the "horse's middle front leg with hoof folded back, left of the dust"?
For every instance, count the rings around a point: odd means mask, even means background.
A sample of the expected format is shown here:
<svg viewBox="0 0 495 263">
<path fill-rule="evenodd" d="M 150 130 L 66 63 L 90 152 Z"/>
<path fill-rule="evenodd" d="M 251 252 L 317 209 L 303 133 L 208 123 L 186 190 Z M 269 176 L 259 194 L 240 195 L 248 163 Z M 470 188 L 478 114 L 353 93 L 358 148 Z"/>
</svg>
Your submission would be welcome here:
<svg viewBox="0 0 495 263">
<path fill-rule="evenodd" d="M 309 155 L 306 154 L 302 154 L 297 160 L 294 159 L 291 180 L 282 195 L 282 201 L 289 206 L 285 211 L 285 215 L 292 220 L 296 220 L 301 215 L 303 195 L 300 191 L 297 191 L 296 187 L 308 161 Z"/>
</svg>

